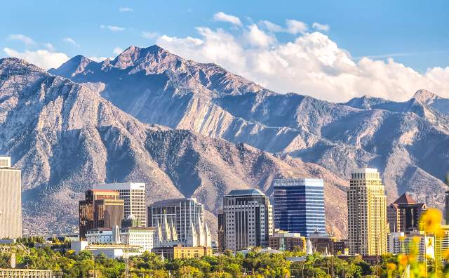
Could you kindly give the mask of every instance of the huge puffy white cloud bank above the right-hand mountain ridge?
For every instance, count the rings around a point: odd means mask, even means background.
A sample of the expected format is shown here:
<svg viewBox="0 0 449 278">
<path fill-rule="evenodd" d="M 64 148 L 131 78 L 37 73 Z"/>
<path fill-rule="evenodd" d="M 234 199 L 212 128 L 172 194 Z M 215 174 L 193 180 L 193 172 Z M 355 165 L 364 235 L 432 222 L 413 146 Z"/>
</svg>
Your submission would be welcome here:
<svg viewBox="0 0 449 278">
<path fill-rule="evenodd" d="M 163 35 L 160 46 L 198 62 L 215 62 L 231 72 L 280 93 L 297 92 L 334 102 L 362 95 L 408 100 L 420 88 L 449 97 L 449 67 L 420 73 L 392 58 L 354 60 L 348 51 L 321 32 L 289 20 L 283 30 L 297 34 L 280 42 L 256 25 L 243 29 L 197 27 L 195 37 Z M 266 23 L 259 22 L 269 28 Z M 273 29 L 274 27 L 274 29 Z M 284 31 L 285 32 L 285 31 Z"/>
</svg>

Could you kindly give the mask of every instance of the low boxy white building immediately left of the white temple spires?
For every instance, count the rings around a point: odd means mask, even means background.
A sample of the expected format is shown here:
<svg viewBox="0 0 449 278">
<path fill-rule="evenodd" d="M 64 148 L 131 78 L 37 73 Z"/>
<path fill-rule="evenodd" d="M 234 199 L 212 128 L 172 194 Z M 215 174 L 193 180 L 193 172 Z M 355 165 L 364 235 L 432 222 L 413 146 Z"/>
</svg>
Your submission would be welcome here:
<svg viewBox="0 0 449 278">
<path fill-rule="evenodd" d="M 120 230 L 121 244 L 141 246 L 143 251 L 154 248 L 154 227 L 125 227 Z"/>
</svg>

